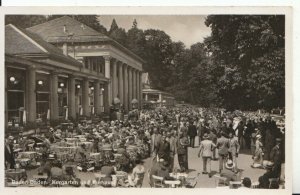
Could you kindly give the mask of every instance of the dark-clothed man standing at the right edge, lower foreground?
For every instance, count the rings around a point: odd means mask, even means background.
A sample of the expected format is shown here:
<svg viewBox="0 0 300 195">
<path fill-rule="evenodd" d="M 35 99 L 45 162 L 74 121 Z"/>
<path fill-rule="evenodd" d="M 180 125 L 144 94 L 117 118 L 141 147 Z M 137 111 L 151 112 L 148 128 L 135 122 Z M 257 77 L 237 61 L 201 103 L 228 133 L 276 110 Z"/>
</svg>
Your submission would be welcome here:
<svg viewBox="0 0 300 195">
<path fill-rule="evenodd" d="M 274 163 L 274 172 L 276 174 L 276 177 L 279 177 L 282 162 L 281 138 L 276 138 L 276 144 L 272 148 L 270 153 L 270 161 Z"/>
</svg>

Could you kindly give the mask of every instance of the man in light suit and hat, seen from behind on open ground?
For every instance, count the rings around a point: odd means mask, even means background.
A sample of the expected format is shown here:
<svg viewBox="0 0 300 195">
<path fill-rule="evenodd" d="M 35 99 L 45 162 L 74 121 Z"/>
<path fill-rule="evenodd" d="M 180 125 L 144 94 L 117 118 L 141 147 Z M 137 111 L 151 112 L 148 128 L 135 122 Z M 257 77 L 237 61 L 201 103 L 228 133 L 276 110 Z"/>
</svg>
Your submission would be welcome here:
<svg viewBox="0 0 300 195">
<path fill-rule="evenodd" d="M 198 153 L 198 157 L 202 156 L 203 160 L 203 174 L 207 174 L 207 164 L 209 166 L 209 175 L 211 173 L 211 157 L 213 155 L 213 150 L 216 147 L 216 145 L 209 140 L 209 136 L 207 133 L 203 136 L 203 141 L 200 143 L 200 150 Z"/>
</svg>

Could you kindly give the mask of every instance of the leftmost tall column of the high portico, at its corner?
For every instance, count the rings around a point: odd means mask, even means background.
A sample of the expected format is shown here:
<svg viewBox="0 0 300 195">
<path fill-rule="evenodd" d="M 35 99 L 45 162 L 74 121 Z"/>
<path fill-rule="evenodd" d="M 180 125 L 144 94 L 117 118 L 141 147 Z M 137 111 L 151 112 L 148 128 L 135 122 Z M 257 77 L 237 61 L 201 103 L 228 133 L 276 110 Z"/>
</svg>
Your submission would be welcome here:
<svg viewBox="0 0 300 195">
<path fill-rule="evenodd" d="M 105 111 L 109 112 L 109 106 L 112 103 L 112 82 L 111 82 L 111 78 L 110 78 L 110 56 L 104 56 L 104 60 L 105 60 L 105 77 L 108 78 L 108 83 L 107 86 L 105 86 L 105 95 L 107 95 L 107 97 L 105 98 L 105 102 L 104 105 L 106 106 Z"/>
</svg>

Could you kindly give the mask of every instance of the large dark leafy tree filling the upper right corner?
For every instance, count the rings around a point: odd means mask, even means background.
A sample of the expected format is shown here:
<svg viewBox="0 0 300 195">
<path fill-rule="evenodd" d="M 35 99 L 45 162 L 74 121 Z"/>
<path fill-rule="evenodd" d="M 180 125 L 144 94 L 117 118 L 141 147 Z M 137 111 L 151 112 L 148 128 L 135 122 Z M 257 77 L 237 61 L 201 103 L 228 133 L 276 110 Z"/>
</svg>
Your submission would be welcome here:
<svg viewBox="0 0 300 195">
<path fill-rule="evenodd" d="M 218 98 L 229 109 L 284 106 L 285 60 L 283 15 L 212 15 L 211 37 Z"/>
</svg>

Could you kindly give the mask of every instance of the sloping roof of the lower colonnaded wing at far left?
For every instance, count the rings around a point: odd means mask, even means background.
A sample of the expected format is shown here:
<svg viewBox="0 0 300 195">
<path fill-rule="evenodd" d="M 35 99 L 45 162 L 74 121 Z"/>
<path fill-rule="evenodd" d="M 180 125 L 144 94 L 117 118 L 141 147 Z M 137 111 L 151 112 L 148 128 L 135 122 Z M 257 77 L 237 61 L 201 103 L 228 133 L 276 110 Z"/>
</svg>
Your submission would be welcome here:
<svg viewBox="0 0 300 195">
<path fill-rule="evenodd" d="M 37 34 L 12 24 L 5 26 L 5 53 L 28 58 L 49 57 L 74 66 L 82 66 L 70 56 L 65 56 L 57 47 L 47 43 Z"/>
</svg>

